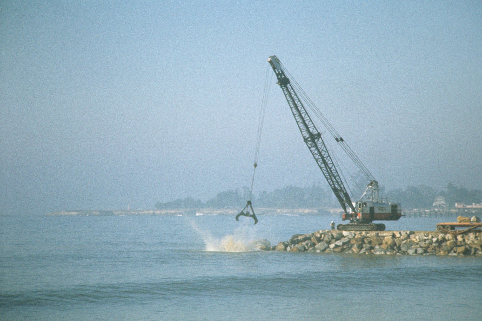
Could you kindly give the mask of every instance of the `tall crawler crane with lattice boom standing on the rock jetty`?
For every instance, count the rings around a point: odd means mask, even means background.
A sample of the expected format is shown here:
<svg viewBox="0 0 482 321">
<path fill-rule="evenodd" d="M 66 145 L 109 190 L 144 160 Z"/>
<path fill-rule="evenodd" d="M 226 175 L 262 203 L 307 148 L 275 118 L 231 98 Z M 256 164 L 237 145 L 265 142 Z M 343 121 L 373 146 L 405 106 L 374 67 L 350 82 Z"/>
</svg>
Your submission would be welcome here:
<svg viewBox="0 0 482 321">
<path fill-rule="evenodd" d="M 350 224 L 338 224 L 337 229 L 340 230 L 384 230 L 385 224 L 373 224 L 375 220 L 398 220 L 402 216 L 400 203 L 388 203 L 379 200 L 378 182 L 375 177 L 368 171 L 363 163 L 358 159 L 355 153 L 348 147 L 344 139 L 335 131 L 333 126 L 324 118 L 319 110 L 312 104 L 311 100 L 304 91 L 296 84 L 300 91 L 300 95 L 308 101 L 310 106 L 314 106 L 312 110 L 327 126 L 330 133 L 335 137 L 335 141 L 348 153 L 348 156 L 357 164 L 361 172 L 370 180 L 362 197 L 356 203 L 352 202 L 350 196 L 343 184 L 343 180 L 335 167 L 335 163 L 328 152 L 328 148 L 323 141 L 323 137 L 315 126 L 313 120 L 308 114 L 307 109 L 303 105 L 300 96 L 292 85 L 289 73 L 286 71 L 280 60 L 276 56 L 270 56 L 268 63 L 278 79 L 277 84 L 288 102 L 288 105 L 295 117 L 296 124 L 300 130 L 303 140 L 308 146 L 311 155 L 315 159 L 321 173 L 325 177 L 328 185 L 335 194 L 336 199 L 343 208 L 342 220 L 349 220 Z M 318 112 L 317 112 L 318 111 Z"/>
</svg>

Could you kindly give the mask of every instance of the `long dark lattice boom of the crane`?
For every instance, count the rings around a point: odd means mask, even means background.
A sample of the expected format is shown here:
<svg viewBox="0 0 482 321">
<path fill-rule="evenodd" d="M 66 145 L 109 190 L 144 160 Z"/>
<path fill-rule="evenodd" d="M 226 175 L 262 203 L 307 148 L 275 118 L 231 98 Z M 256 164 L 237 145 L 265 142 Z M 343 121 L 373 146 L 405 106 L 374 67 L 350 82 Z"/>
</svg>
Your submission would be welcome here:
<svg viewBox="0 0 482 321">
<path fill-rule="evenodd" d="M 270 56 L 268 59 L 269 64 L 273 68 L 273 71 L 278 79 L 277 84 L 280 85 L 283 94 L 288 101 L 291 112 L 295 117 L 296 124 L 303 136 L 303 140 L 313 155 L 316 163 L 321 169 L 321 173 L 326 178 L 326 181 L 330 185 L 331 189 L 335 193 L 336 199 L 340 202 L 343 211 L 347 217 L 351 215 L 348 214 L 348 209 L 351 209 L 351 213 L 356 213 L 355 207 L 350 200 L 347 189 L 343 184 L 343 181 L 336 170 L 335 164 L 328 153 L 321 133 L 316 128 L 315 124 L 311 120 L 305 106 L 296 94 L 293 86 L 290 83 L 289 78 L 286 76 L 281 66 L 280 60 L 276 56 Z"/>
</svg>

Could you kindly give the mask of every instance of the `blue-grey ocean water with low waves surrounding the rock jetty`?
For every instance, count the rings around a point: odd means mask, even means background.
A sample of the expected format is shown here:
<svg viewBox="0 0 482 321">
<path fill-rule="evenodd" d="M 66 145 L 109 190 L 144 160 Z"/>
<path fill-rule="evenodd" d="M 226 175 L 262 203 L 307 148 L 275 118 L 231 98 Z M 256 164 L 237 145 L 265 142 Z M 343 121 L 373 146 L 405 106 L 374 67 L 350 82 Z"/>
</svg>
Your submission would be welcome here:
<svg viewBox="0 0 482 321">
<path fill-rule="evenodd" d="M 335 216 L 0 217 L 1 320 L 482 320 L 482 257 L 254 251 Z M 434 230 L 453 218 L 387 229 Z M 232 252 L 228 252 L 232 251 Z"/>
</svg>

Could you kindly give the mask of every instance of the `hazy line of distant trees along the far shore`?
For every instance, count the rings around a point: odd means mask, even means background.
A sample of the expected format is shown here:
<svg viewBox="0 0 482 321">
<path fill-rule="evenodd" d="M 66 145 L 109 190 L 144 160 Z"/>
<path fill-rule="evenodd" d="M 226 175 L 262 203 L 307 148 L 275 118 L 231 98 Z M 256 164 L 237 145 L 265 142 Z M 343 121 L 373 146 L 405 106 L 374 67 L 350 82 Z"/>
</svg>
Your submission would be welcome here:
<svg viewBox="0 0 482 321">
<path fill-rule="evenodd" d="M 404 189 L 395 188 L 385 191 L 381 188 L 380 195 L 388 197 L 390 202 L 402 203 L 402 208 L 429 208 L 437 196 L 443 196 L 448 205 L 455 203 L 481 203 L 482 190 L 455 187 L 449 183 L 446 190 L 438 191 L 426 185 L 408 186 Z M 249 198 L 249 188 L 243 187 L 228 189 L 217 193 L 216 197 L 206 202 L 195 201 L 191 197 L 177 199 L 165 203 L 158 202 L 158 209 L 178 208 L 242 208 Z M 275 189 L 272 192 L 262 191 L 252 197 L 253 205 L 262 208 L 320 208 L 338 206 L 330 187 L 321 187 L 321 184 L 313 183 L 310 187 L 287 186 Z"/>
</svg>

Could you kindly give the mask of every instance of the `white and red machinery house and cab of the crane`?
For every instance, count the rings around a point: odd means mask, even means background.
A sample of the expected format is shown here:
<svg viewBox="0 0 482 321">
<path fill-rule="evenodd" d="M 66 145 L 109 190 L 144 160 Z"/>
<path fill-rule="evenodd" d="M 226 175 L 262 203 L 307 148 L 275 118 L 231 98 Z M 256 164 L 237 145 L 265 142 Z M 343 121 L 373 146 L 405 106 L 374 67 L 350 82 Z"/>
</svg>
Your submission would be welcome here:
<svg viewBox="0 0 482 321">
<path fill-rule="evenodd" d="M 385 203 L 375 201 L 357 201 L 357 219 L 371 223 L 373 221 L 397 221 L 402 217 L 400 203 Z"/>
</svg>

